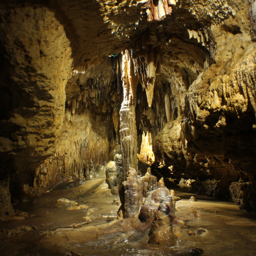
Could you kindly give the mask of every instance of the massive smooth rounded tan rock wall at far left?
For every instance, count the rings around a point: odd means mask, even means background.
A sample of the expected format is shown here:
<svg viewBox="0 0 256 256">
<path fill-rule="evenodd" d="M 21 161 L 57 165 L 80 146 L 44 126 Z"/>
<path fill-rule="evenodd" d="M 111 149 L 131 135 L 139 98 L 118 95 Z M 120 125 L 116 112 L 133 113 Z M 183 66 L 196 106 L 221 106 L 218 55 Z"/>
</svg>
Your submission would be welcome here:
<svg viewBox="0 0 256 256">
<path fill-rule="evenodd" d="M 13 188 L 20 190 L 55 151 L 73 59 L 63 26 L 47 8 L 1 8 L 0 16 L 0 179 L 19 175 Z"/>
</svg>

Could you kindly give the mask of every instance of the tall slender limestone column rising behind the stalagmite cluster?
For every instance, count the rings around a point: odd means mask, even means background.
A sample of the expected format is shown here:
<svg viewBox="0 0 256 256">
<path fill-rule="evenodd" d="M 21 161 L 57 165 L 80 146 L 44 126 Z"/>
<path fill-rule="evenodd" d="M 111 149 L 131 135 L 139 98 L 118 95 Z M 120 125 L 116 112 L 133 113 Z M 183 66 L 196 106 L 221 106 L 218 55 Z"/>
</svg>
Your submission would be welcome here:
<svg viewBox="0 0 256 256">
<path fill-rule="evenodd" d="M 123 102 L 120 109 L 120 144 L 123 160 L 123 181 L 126 180 L 129 167 L 138 169 L 137 127 L 135 117 L 136 90 L 139 81 L 137 59 L 132 59 L 131 52 L 122 53 Z"/>
</svg>

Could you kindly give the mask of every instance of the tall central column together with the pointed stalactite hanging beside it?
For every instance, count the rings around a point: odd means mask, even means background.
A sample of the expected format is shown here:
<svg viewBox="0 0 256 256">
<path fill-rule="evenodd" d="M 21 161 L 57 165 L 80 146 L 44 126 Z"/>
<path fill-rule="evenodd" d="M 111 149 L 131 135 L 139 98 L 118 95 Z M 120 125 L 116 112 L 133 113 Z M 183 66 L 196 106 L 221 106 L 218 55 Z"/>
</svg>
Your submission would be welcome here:
<svg viewBox="0 0 256 256">
<path fill-rule="evenodd" d="M 142 50 L 141 50 L 142 47 Z M 146 51 L 143 49 L 146 49 Z M 129 167 L 137 169 L 137 127 L 136 127 L 136 91 L 139 80 L 146 91 L 148 106 L 152 106 L 159 48 L 145 45 L 139 40 L 135 51 L 122 53 L 123 101 L 120 109 L 120 143 L 122 148 L 123 179 Z M 117 125 L 116 125 L 117 126 Z"/>
</svg>

